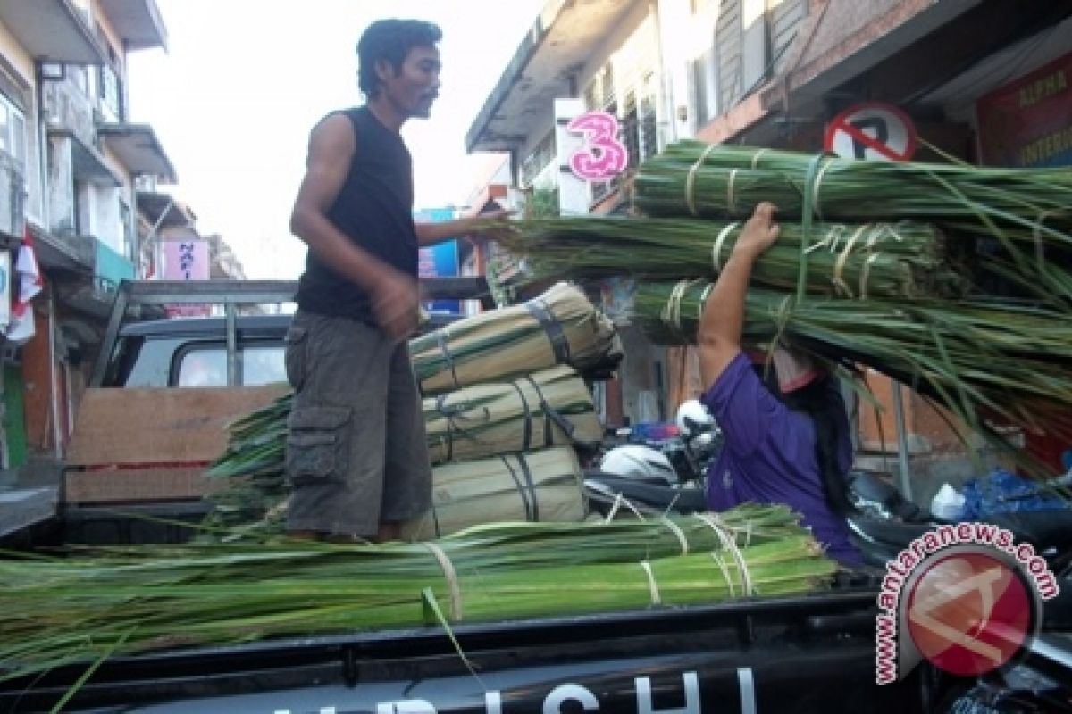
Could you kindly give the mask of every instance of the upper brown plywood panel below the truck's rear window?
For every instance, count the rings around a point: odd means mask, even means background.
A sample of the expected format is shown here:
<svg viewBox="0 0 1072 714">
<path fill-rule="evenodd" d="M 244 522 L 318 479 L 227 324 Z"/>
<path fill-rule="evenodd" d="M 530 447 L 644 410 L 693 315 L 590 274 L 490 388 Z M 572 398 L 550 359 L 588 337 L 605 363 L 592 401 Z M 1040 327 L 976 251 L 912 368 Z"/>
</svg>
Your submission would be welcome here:
<svg viewBox="0 0 1072 714">
<path fill-rule="evenodd" d="M 86 390 L 68 466 L 207 464 L 223 453 L 228 423 L 288 390 L 282 384 Z"/>
</svg>

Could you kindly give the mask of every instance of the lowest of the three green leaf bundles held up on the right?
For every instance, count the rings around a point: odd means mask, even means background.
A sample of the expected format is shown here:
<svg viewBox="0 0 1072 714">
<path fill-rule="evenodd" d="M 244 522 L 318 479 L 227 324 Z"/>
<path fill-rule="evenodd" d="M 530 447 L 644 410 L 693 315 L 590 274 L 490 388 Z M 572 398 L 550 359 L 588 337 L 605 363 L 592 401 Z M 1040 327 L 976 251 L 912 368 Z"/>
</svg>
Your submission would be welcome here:
<svg viewBox="0 0 1072 714">
<path fill-rule="evenodd" d="M 695 343 L 709 285 L 641 284 L 634 319 L 658 343 Z M 749 290 L 742 339 L 775 338 L 893 377 L 983 434 L 987 421 L 1072 426 L 1072 321 L 1063 310 L 980 300 L 798 302 Z"/>
</svg>

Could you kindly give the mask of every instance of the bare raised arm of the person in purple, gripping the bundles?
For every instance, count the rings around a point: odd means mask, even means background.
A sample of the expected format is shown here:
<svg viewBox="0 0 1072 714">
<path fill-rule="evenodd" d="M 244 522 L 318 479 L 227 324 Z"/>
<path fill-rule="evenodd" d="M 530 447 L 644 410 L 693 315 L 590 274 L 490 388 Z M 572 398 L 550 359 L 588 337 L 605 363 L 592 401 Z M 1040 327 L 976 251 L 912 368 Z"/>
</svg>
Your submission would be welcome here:
<svg viewBox="0 0 1072 714">
<path fill-rule="evenodd" d="M 756 259 L 778 238 L 773 204 L 763 202 L 741 230 L 729 260 L 715 280 L 697 330 L 700 376 L 710 388 L 741 351 L 745 295 Z"/>
</svg>

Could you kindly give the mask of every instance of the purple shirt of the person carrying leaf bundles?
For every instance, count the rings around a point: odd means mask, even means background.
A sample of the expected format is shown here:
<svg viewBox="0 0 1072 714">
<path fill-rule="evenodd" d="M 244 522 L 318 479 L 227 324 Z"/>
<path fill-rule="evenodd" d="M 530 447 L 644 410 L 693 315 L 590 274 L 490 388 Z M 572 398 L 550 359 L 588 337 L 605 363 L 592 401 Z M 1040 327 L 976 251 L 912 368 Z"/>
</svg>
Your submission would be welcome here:
<svg viewBox="0 0 1072 714">
<path fill-rule="evenodd" d="M 833 389 L 833 388 L 832 388 Z M 725 511 L 741 503 L 785 503 L 801 514 L 827 553 L 845 565 L 861 564 L 845 519 L 827 503 L 815 456 L 815 425 L 770 393 L 742 352 L 718 376 L 701 401 L 723 430 L 726 446 L 708 469 L 708 505 Z M 852 465 L 848 416 L 838 465 Z"/>
</svg>

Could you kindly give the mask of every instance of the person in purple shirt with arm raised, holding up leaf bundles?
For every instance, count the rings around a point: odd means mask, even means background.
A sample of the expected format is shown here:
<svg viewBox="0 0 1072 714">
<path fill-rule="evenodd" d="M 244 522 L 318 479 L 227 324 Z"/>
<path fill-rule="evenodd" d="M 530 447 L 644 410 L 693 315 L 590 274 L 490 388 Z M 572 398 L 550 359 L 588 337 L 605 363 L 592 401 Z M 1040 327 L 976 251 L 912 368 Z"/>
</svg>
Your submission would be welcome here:
<svg viewBox="0 0 1072 714">
<path fill-rule="evenodd" d="M 785 503 L 832 558 L 860 565 L 844 517 L 852 444 L 835 380 L 803 352 L 776 347 L 772 375 L 765 353 L 749 356 L 741 348 L 753 265 L 778 238 L 774 211 L 766 202 L 756 207 L 700 317 L 700 374 L 709 385 L 701 400 L 726 438 L 708 470 L 708 505 Z"/>
</svg>

